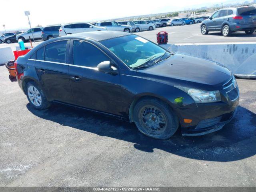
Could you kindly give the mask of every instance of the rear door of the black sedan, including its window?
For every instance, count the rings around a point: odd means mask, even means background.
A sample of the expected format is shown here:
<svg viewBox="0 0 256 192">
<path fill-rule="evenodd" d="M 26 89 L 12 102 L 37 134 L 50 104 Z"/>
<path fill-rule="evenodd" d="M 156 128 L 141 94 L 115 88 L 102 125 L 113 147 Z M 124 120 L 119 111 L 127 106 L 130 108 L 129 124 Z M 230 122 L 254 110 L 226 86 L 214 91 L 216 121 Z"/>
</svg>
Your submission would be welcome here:
<svg viewBox="0 0 256 192">
<path fill-rule="evenodd" d="M 51 100 L 73 103 L 68 75 L 69 40 L 60 40 L 36 51 L 35 68 L 40 84 Z"/>
</svg>

